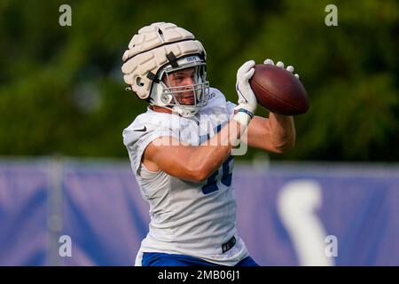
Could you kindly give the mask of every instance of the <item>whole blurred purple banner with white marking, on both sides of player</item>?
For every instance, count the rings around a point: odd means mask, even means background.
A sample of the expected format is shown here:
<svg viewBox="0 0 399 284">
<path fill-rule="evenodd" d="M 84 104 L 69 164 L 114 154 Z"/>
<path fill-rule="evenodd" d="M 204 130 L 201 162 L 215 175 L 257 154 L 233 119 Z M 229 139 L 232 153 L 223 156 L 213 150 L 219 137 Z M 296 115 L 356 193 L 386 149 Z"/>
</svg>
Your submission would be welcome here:
<svg viewBox="0 0 399 284">
<path fill-rule="evenodd" d="M 258 264 L 399 265 L 397 168 L 236 166 L 232 182 Z M 0 163 L 0 265 L 133 265 L 148 222 L 128 163 Z"/>
</svg>

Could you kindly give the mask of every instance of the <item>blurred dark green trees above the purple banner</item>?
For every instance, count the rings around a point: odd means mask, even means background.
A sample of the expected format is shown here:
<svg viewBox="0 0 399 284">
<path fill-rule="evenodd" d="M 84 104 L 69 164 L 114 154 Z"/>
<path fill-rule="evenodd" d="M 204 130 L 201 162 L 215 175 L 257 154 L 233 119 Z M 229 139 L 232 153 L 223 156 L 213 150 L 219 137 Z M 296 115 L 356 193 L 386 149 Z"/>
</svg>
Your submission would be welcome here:
<svg viewBox="0 0 399 284">
<path fill-rule="evenodd" d="M 338 26 L 326 27 L 329 2 L 4 0 L 0 154 L 126 157 L 121 131 L 146 104 L 124 91 L 121 55 L 139 28 L 170 21 L 204 43 L 208 78 L 233 102 L 245 60 L 296 68 L 310 110 L 294 150 L 272 159 L 397 162 L 398 3 L 334 1 Z M 61 4 L 72 27 L 59 26 Z"/>
</svg>

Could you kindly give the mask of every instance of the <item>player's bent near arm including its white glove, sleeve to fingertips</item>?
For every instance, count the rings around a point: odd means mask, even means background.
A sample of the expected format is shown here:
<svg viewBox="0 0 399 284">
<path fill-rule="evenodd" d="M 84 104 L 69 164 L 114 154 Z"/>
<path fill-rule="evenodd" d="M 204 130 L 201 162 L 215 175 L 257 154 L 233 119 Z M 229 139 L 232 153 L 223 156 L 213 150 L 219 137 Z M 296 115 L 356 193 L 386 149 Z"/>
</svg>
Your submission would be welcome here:
<svg viewBox="0 0 399 284">
<path fill-rule="evenodd" d="M 213 138 L 200 146 L 179 144 L 176 139 L 168 137 L 167 143 L 155 139 L 145 149 L 144 163 L 152 170 L 163 170 L 173 177 L 194 182 L 207 179 L 231 154 L 241 134 L 246 130 L 256 109 L 254 93 L 248 93 L 248 80 L 254 75 L 254 61 L 247 61 L 237 72 L 237 91 L 239 106 L 233 119 L 223 126 Z M 165 138 L 163 138 L 165 141 Z M 175 146 L 174 144 L 175 143 Z"/>
</svg>

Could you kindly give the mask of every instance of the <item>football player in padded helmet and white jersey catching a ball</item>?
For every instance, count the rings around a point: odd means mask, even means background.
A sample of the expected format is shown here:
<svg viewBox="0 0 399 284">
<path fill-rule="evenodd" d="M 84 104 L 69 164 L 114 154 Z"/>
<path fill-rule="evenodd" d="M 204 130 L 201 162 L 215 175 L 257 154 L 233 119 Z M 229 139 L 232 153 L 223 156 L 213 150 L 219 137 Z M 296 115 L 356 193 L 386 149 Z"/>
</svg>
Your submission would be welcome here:
<svg viewBox="0 0 399 284">
<path fill-rule="evenodd" d="M 226 101 L 207 82 L 203 45 L 175 24 L 141 28 L 122 59 L 129 90 L 149 103 L 123 130 L 151 216 L 136 265 L 257 265 L 236 227 L 232 148 L 243 138 L 285 152 L 294 145 L 293 117 L 254 116 L 253 60 L 237 72 L 238 105 Z"/>
</svg>

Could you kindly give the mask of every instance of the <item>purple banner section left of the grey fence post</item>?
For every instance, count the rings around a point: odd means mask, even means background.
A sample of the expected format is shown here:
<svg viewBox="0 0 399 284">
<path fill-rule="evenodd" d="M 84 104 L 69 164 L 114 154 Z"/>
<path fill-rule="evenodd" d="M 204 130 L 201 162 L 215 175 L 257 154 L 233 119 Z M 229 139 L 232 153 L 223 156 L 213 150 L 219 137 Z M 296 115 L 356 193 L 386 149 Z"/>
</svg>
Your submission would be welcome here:
<svg viewBox="0 0 399 284">
<path fill-rule="evenodd" d="M 0 164 L 0 265 L 44 265 L 47 248 L 46 165 Z"/>
</svg>

